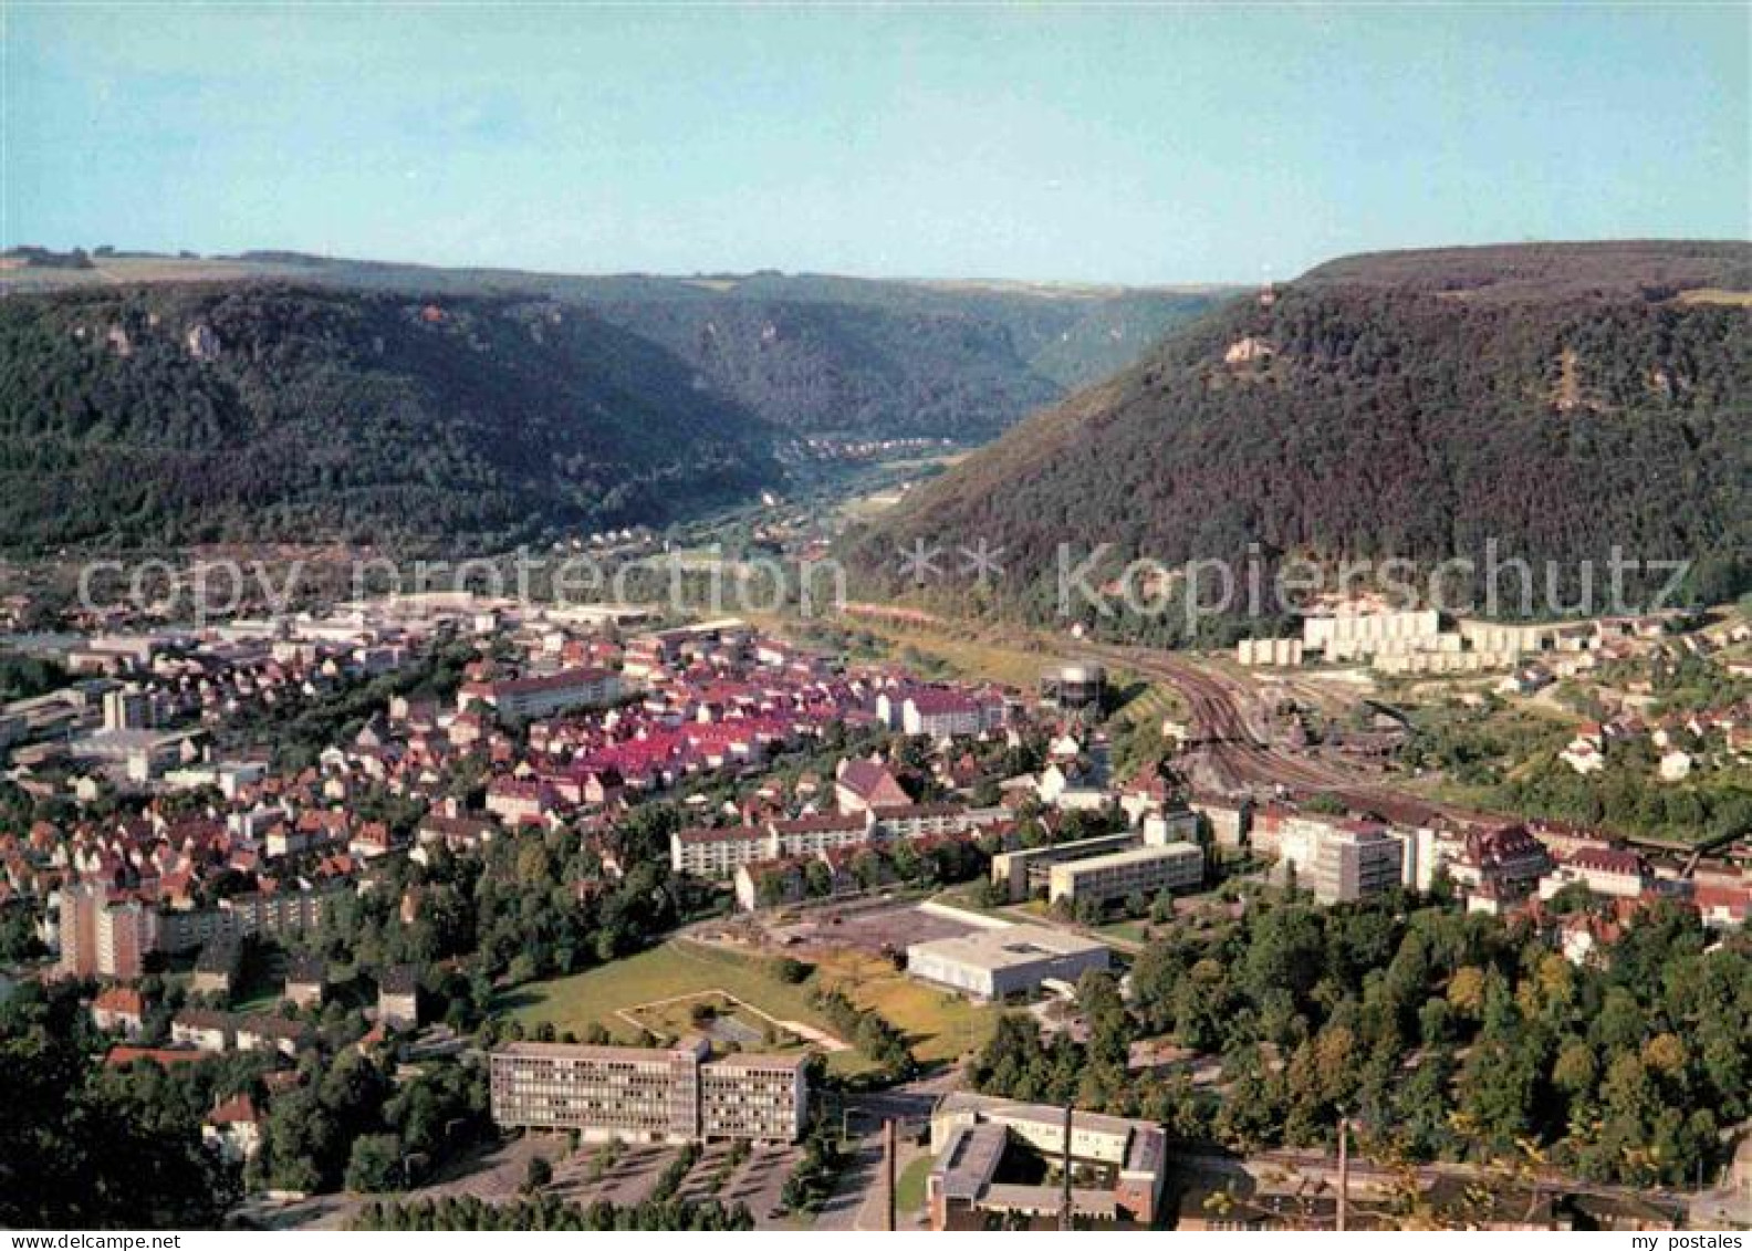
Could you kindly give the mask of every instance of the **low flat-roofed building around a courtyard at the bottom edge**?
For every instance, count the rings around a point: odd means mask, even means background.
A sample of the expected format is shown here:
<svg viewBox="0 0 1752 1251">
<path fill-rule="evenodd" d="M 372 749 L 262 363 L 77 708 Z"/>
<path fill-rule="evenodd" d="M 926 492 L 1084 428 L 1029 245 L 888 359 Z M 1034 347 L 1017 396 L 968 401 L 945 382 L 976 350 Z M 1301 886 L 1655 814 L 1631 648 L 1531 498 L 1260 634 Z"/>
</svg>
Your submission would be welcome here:
<svg viewBox="0 0 1752 1251">
<path fill-rule="evenodd" d="M 965 1092 L 944 1095 L 930 1114 L 930 1153 L 936 1156 L 925 1183 L 930 1226 L 979 1230 L 990 1216 L 1056 1226 L 1067 1188 L 1062 1181 L 1034 1186 L 999 1181 L 1004 1158 L 1013 1151 L 1034 1153 L 1060 1167 L 1069 1153 L 1077 1174 L 1069 1188 L 1076 1218 L 1102 1225 L 1155 1221 L 1167 1177 L 1162 1127 L 1074 1111 L 1067 1135 L 1065 1111 Z"/>
</svg>

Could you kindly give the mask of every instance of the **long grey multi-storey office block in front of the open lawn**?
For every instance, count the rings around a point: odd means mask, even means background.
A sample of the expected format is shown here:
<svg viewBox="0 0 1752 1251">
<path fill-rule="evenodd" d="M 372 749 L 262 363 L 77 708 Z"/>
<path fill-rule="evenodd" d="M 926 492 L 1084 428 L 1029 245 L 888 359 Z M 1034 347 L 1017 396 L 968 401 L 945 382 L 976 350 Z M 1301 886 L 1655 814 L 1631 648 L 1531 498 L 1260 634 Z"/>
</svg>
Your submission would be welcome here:
<svg viewBox="0 0 1752 1251">
<path fill-rule="evenodd" d="M 675 1048 L 508 1042 L 492 1053 L 492 1120 L 589 1141 L 794 1142 L 809 1111 L 804 1055 L 710 1058 Z"/>
</svg>

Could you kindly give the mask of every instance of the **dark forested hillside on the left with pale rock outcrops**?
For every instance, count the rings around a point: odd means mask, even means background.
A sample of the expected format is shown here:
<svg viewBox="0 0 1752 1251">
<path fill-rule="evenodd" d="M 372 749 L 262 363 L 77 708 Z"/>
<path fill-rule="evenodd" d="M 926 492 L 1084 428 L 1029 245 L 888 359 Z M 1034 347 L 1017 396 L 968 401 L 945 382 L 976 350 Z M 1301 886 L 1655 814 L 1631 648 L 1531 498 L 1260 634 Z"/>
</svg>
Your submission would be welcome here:
<svg viewBox="0 0 1752 1251">
<path fill-rule="evenodd" d="M 778 480 L 773 431 L 597 317 L 156 284 L 0 301 L 12 548 L 237 538 L 512 541 L 662 522 Z"/>
</svg>

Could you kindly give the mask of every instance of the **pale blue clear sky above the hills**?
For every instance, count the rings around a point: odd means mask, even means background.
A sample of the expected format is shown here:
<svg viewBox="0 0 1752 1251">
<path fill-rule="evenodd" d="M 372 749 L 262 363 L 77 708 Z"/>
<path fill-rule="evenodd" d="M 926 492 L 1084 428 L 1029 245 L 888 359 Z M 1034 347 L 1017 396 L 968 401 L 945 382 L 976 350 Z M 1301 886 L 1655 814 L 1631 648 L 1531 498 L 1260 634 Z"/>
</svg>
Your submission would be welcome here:
<svg viewBox="0 0 1752 1251">
<path fill-rule="evenodd" d="M 0 244 L 1286 279 L 1752 237 L 1752 7 L 0 0 Z"/>
</svg>

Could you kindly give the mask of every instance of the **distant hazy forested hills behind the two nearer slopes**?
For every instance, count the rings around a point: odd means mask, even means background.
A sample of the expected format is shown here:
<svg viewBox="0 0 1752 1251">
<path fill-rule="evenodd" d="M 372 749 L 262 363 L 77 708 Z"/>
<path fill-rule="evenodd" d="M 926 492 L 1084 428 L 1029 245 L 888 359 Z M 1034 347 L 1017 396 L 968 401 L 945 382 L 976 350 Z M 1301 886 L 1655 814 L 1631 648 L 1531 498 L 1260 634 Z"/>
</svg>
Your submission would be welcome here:
<svg viewBox="0 0 1752 1251">
<path fill-rule="evenodd" d="M 240 258 L 16 254 L 0 291 L 110 280 L 273 277 L 426 296 L 583 305 L 689 363 L 699 385 L 774 426 L 979 443 L 1125 368 L 1216 289 L 901 282 L 832 275 L 566 275 L 440 270 L 296 252 Z M 75 265 L 74 261 L 82 261 Z"/>
</svg>

